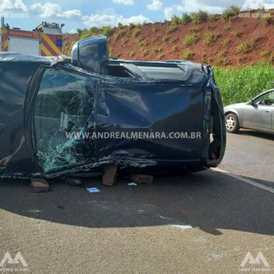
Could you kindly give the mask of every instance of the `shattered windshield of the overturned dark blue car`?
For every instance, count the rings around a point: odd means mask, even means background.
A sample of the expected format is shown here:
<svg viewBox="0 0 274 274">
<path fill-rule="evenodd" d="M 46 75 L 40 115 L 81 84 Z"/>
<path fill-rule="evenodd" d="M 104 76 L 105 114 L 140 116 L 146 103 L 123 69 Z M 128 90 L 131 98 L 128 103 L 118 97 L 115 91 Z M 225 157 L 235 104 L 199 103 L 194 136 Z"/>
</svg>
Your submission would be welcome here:
<svg viewBox="0 0 274 274">
<path fill-rule="evenodd" d="M 43 173 L 92 163 L 94 101 L 99 80 L 62 68 L 45 68 L 34 92 L 33 146 Z"/>
</svg>

